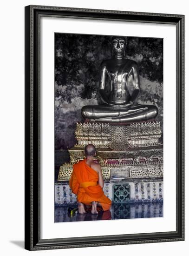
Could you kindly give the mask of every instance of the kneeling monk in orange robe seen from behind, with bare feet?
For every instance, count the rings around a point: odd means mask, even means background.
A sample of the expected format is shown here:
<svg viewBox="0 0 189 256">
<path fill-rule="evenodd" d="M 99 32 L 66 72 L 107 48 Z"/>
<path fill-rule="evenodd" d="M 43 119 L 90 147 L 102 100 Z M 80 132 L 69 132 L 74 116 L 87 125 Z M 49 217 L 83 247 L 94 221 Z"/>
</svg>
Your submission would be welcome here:
<svg viewBox="0 0 189 256">
<path fill-rule="evenodd" d="M 101 166 L 93 162 L 96 155 L 96 148 L 89 144 L 85 147 L 85 160 L 81 160 L 73 165 L 73 172 L 69 182 L 72 192 L 78 198 L 78 211 L 85 213 L 85 204 L 92 205 L 91 213 L 98 214 L 97 204 L 104 211 L 111 207 L 111 200 L 104 195 L 104 180 Z"/>
</svg>

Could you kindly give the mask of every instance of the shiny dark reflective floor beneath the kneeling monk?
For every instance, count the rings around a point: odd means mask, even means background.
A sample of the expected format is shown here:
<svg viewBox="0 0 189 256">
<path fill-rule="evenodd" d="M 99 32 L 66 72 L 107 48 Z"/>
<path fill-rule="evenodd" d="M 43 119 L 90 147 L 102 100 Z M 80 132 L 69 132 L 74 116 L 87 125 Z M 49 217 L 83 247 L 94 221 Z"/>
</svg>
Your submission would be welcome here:
<svg viewBox="0 0 189 256">
<path fill-rule="evenodd" d="M 98 208 L 98 215 L 92 215 L 88 209 L 85 214 L 70 215 L 68 208 L 77 206 L 56 206 L 55 222 L 99 221 L 133 218 L 163 217 L 163 202 L 115 203 L 110 211 L 103 212 Z"/>
</svg>

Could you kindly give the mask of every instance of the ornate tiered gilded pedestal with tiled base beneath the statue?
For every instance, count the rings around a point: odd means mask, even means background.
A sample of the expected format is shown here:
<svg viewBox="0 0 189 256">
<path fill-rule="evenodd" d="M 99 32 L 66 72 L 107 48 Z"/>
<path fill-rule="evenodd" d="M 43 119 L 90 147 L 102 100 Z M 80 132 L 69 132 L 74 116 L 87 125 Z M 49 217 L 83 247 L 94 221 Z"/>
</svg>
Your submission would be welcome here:
<svg viewBox="0 0 189 256">
<path fill-rule="evenodd" d="M 163 200 L 163 144 L 160 122 L 124 124 L 77 123 L 78 143 L 69 149 L 69 163 L 60 166 L 55 185 L 56 204 L 72 204 L 76 197 L 69 189 L 74 163 L 85 158 L 89 143 L 97 148 L 94 161 L 100 163 L 104 193 L 112 202 Z"/>
</svg>

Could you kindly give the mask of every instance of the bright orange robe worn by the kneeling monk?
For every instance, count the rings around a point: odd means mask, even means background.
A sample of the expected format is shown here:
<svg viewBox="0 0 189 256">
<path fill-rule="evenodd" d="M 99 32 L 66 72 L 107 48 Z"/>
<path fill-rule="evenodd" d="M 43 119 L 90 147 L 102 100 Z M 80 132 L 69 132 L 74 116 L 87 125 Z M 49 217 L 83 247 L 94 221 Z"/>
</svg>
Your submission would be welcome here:
<svg viewBox="0 0 189 256">
<path fill-rule="evenodd" d="M 77 195 L 78 202 L 91 205 L 91 202 L 100 202 L 104 211 L 111 207 L 111 200 L 104 195 L 98 184 L 98 173 L 81 160 L 73 165 L 72 176 L 69 182 L 72 192 Z"/>
</svg>

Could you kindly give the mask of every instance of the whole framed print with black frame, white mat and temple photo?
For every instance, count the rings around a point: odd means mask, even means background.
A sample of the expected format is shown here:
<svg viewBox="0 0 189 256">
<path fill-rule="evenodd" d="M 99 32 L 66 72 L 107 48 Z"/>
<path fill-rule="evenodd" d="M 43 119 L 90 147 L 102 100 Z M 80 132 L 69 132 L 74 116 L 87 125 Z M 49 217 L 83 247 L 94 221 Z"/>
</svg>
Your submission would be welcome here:
<svg viewBox="0 0 189 256">
<path fill-rule="evenodd" d="M 25 248 L 184 240 L 184 16 L 25 7 Z"/>
</svg>

